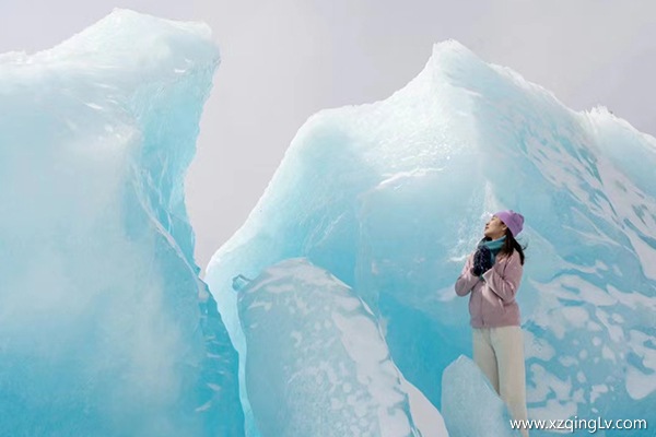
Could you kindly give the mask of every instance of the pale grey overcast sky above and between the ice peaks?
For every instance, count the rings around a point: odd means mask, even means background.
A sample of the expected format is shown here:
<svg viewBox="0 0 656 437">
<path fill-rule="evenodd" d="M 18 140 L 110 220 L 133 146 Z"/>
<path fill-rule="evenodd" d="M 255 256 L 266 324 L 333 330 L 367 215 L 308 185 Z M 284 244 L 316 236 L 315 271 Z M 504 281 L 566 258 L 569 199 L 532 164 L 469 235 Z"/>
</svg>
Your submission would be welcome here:
<svg viewBox="0 0 656 437">
<path fill-rule="evenodd" d="M 0 52 L 50 48 L 114 8 L 204 21 L 220 47 L 186 186 L 203 269 L 311 115 L 386 98 L 445 39 L 656 135 L 654 0 L 0 0 Z"/>
</svg>

